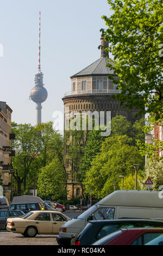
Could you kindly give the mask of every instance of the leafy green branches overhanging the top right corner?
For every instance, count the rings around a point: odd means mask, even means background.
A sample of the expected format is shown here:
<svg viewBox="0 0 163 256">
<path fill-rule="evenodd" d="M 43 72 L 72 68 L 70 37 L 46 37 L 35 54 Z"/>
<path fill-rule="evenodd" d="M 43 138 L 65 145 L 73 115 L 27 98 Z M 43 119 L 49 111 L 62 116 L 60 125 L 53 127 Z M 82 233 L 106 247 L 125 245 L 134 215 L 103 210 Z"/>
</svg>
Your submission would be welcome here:
<svg viewBox="0 0 163 256">
<path fill-rule="evenodd" d="M 102 16 L 106 29 L 101 29 L 109 42 L 118 80 L 110 77 L 122 92 L 115 97 L 139 114 L 151 113 L 155 120 L 163 117 L 162 1 L 108 0 L 110 17 Z"/>
</svg>

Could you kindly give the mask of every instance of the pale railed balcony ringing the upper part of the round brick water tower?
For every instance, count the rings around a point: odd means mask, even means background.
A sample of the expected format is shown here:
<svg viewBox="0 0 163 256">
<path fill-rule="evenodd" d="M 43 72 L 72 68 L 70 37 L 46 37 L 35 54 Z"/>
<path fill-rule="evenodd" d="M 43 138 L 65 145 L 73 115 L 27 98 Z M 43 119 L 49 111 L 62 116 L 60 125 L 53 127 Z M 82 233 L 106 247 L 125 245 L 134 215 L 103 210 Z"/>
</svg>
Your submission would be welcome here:
<svg viewBox="0 0 163 256">
<path fill-rule="evenodd" d="M 78 90 L 77 92 L 67 92 L 65 96 L 72 96 L 78 94 L 117 94 L 121 93 L 121 90 L 103 89 L 103 90 Z"/>
</svg>

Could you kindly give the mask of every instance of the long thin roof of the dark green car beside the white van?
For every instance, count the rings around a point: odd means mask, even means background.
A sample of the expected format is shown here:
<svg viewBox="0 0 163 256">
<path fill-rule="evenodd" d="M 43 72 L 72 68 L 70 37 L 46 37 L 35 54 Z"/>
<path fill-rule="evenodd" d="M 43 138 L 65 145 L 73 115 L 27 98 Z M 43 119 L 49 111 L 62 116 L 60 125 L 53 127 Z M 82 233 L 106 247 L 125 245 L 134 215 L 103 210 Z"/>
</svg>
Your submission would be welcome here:
<svg viewBox="0 0 163 256">
<path fill-rule="evenodd" d="M 154 220 L 154 219 L 147 219 L 147 218 L 121 218 L 121 219 L 114 219 L 114 220 L 93 220 L 93 221 L 89 221 L 90 223 L 105 223 L 105 222 L 119 222 L 119 223 L 123 223 L 123 222 L 159 222 L 163 224 L 163 219 L 162 220 Z"/>
</svg>

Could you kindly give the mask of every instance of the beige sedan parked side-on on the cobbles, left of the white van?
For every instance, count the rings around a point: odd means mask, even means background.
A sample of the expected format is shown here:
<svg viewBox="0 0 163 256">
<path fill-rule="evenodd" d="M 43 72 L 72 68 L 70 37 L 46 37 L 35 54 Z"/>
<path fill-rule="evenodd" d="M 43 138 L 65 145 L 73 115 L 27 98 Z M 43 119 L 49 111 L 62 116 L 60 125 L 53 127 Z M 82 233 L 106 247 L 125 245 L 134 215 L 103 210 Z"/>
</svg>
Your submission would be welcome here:
<svg viewBox="0 0 163 256">
<path fill-rule="evenodd" d="M 58 234 L 62 224 L 70 220 L 58 211 L 30 211 L 19 218 L 7 219 L 7 230 L 25 237 L 37 234 Z"/>
</svg>

